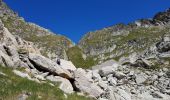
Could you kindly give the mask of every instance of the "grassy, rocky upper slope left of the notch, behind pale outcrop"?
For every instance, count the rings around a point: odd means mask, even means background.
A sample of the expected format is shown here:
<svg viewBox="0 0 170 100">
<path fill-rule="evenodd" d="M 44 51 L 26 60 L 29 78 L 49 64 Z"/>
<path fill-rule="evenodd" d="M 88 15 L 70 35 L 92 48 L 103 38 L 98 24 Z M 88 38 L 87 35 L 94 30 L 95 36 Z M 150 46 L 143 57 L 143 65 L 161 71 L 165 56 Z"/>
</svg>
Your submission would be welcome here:
<svg viewBox="0 0 170 100">
<path fill-rule="evenodd" d="M 44 56 L 51 59 L 56 57 L 67 59 L 65 51 L 73 44 L 65 36 L 56 35 L 34 23 L 26 22 L 2 1 L 0 2 L 0 19 L 13 35 L 36 44 Z"/>
</svg>

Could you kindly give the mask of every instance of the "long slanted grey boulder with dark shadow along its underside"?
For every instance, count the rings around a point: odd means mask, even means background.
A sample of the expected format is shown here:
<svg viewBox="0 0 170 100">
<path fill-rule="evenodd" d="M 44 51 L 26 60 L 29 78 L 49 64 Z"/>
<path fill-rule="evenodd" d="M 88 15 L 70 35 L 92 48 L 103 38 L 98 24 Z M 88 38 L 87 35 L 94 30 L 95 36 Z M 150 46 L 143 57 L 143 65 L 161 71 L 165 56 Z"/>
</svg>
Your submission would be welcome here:
<svg viewBox="0 0 170 100">
<path fill-rule="evenodd" d="M 57 65 L 56 62 L 42 55 L 30 53 L 29 60 L 38 70 L 50 72 L 51 74 L 59 75 L 67 79 L 73 78 L 72 74 L 69 71 L 61 68 L 59 65 Z"/>
</svg>

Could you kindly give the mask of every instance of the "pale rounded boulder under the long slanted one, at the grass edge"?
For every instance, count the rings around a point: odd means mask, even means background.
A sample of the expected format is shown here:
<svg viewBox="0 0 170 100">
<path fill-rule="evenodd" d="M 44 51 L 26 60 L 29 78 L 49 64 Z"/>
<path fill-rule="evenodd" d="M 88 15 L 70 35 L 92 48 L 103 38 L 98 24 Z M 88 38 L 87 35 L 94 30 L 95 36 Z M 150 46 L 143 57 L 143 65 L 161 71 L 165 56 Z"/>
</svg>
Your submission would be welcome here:
<svg viewBox="0 0 170 100">
<path fill-rule="evenodd" d="M 73 87 L 72 87 L 72 84 L 70 83 L 69 80 L 65 79 L 65 78 L 62 78 L 62 77 L 59 77 L 59 76 L 47 76 L 46 77 L 48 80 L 52 81 L 52 82 L 57 82 L 57 83 L 60 83 L 59 85 L 59 88 L 65 92 L 65 93 L 73 93 Z"/>
</svg>

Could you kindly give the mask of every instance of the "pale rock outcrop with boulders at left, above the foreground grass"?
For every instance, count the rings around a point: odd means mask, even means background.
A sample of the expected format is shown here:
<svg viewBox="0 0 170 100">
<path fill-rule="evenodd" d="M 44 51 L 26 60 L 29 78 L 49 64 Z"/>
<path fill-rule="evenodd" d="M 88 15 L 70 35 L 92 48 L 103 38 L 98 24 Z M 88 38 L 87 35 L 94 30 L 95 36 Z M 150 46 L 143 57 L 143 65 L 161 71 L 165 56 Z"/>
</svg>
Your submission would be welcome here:
<svg viewBox="0 0 170 100">
<path fill-rule="evenodd" d="M 76 67 L 69 61 L 61 60 L 61 65 L 41 55 L 32 42 L 12 35 L 0 21 L 0 64 L 12 68 L 24 68 L 25 72 L 13 72 L 23 78 L 41 83 L 46 79 L 61 83 L 59 88 L 65 93 L 73 93 L 70 83 Z M 31 75 L 31 76 L 30 76 Z M 49 76 L 51 75 L 51 76 Z"/>
</svg>

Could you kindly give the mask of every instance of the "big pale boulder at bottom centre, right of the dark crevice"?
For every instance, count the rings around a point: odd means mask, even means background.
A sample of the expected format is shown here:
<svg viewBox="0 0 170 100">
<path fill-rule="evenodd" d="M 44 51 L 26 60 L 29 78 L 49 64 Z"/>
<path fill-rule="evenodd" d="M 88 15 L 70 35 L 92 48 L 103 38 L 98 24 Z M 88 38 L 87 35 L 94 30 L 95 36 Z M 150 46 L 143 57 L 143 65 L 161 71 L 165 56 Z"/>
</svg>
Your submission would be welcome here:
<svg viewBox="0 0 170 100">
<path fill-rule="evenodd" d="M 85 71 L 81 68 L 74 71 L 74 79 L 74 85 L 80 92 L 96 98 L 100 97 L 100 95 L 104 92 L 99 86 L 91 82 L 91 80 L 86 77 Z"/>
</svg>

